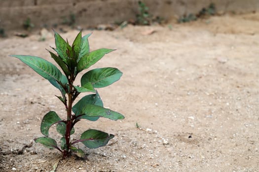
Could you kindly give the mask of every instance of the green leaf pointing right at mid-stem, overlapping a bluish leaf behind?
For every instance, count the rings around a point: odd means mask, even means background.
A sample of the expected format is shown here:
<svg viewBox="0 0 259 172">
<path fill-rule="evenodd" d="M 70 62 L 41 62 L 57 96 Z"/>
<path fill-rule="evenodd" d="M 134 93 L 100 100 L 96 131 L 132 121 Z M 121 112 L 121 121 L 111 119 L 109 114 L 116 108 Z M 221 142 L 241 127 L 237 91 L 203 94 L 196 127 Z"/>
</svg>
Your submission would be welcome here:
<svg viewBox="0 0 259 172">
<path fill-rule="evenodd" d="M 120 113 L 111 111 L 110 109 L 106 109 L 101 106 L 96 105 L 90 105 L 87 104 L 82 108 L 82 115 L 81 118 L 86 118 L 89 116 L 99 116 L 99 117 L 106 117 L 111 120 L 117 120 L 117 119 L 124 119 L 124 116 Z"/>
</svg>

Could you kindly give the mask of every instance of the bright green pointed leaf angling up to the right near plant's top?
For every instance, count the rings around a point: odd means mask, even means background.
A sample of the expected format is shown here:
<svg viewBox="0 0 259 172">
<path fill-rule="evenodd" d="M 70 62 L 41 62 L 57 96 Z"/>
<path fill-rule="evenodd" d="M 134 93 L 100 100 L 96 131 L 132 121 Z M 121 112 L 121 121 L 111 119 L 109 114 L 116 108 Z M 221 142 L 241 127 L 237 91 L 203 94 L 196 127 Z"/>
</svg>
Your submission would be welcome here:
<svg viewBox="0 0 259 172">
<path fill-rule="evenodd" d="M 84 69 L 89 68 L 91 65 L 95 64 L 98 60 L 100 60 L 102 57 L 104 57 L 104 55 L 106 55 L 112 51 L 114 51 L 114 50 L 102 48 L 102 49 L 95 50 L 93 52 L 90 52 L 90 53 L 84 55 L 78 61 L 77 71 L 80 72 Z"/>
</svg>

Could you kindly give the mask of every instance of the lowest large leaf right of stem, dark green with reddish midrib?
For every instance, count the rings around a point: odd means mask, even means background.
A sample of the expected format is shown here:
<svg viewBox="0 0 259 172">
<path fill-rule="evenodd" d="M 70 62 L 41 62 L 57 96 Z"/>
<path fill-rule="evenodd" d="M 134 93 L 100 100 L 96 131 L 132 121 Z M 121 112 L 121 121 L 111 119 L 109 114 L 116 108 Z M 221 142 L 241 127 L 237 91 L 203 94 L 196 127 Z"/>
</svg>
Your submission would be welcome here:
<svg viewBox="0 0 259 172">
<path fill-rule="evenodd" d="M 105 146 L 113 137 L 112 134 L 90 129 L 83 132 L 80 140 L 88 148 L 98 148 Z"/>
</svg>

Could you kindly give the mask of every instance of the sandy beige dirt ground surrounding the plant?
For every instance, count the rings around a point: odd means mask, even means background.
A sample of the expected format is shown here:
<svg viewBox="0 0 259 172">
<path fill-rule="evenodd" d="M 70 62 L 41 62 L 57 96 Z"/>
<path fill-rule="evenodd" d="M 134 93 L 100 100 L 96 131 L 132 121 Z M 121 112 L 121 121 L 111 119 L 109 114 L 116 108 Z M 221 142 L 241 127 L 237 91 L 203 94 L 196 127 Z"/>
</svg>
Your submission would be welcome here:
<svg viewBox="0 0 259 172">
<path fill-rule="evenodd" d="M 259 14 L 168 25 L 83 31 L 93 32 L 91 50 L 117 49 L 93 67 L 123 72 L 98 91 L 105 107 L 125 115 L 75 126 L 73 139 L 89 128 L 115 135 L 97 149 L 78 144 L 85 160 L 61 159 L 33 141 L 42 136 L 43 115 L 52 110 L 65 118 L 65 110 L 56 88 L 7 57 L 54 63 L 45 51 L 55 46 L 53 37 L 0 39 L 0 171 L 49 172 L 59 162 L 56 172 L 258 172 Z M 77 32 L 62 36 L 72 42 Z"/>
</svg>

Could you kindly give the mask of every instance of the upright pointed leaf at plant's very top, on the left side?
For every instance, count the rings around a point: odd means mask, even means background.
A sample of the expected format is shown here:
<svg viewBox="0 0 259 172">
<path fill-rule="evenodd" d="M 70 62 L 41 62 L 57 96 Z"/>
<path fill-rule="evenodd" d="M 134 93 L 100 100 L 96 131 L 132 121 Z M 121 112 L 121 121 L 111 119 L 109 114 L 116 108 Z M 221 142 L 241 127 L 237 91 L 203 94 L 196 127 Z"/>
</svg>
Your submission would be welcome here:
<svg viewBox="0 0 259 172">
<path fill-rule="evenodd" d="M 62 58 L 62 60 L 66 63 L 68 63 L 68 55 L 67 55 L 67 50 L 69 44 L 56 32 L 55 33 L 55 44 L 56 44 L 56 49 L 55 51 L 58 53 L 58 55 Z"/>
</svg>

